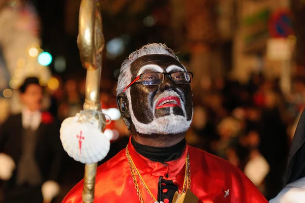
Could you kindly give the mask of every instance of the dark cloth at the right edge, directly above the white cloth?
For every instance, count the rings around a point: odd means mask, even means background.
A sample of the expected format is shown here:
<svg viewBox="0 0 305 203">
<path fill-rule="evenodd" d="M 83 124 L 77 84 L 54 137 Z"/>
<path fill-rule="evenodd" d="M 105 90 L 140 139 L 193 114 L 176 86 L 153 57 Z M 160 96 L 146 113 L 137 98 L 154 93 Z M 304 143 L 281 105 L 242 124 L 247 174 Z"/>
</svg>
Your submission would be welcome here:
<svg viewBox="0 0 305 203">
<path fill-rule="evenodd" d="M 305 109 L 298 121 L 288 156 L 285 186 L 305 177 Z"/>
</svg>

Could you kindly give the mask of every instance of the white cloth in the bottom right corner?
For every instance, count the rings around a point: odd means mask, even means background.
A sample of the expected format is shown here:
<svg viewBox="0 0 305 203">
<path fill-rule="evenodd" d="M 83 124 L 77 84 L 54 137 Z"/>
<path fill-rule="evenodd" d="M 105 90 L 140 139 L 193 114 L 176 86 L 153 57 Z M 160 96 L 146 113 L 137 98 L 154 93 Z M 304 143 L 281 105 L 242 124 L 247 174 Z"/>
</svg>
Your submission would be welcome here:
<svg viewBox="0 0 305 203">
<path fill-rule="evenodd" d="M 305 177 L 289 183 L 270 203 L 305 202 Z"/>
</svg>

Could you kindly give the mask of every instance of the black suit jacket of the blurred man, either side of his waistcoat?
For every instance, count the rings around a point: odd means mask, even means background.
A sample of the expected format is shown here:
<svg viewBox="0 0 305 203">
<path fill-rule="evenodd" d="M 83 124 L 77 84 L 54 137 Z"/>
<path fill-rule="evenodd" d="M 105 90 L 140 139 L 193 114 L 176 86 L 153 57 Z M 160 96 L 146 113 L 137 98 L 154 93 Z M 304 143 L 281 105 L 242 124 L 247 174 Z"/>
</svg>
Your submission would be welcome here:
<svg viewBox="0 0 305 203">
<path fill-rule="evenodd" d="M 22 155 L 22 120 L 21 114 L 10 116 L 0 126 L 0 153 L 6 153 L 16 163 L 16 170 L 7 182 L 7 188 L 15 188 L 19 160 Z M 35 146 L 35 159 L 39 166 L 42 181 L 59 181 L 65 153 L 59 138 L 60 122 L 41 123 L 36 130 L 37 144 Z M 60 182 L 59 182 L 60 183 Z"/>
</svg>

